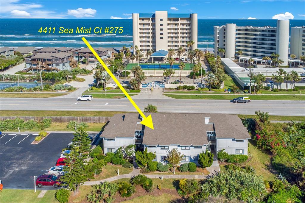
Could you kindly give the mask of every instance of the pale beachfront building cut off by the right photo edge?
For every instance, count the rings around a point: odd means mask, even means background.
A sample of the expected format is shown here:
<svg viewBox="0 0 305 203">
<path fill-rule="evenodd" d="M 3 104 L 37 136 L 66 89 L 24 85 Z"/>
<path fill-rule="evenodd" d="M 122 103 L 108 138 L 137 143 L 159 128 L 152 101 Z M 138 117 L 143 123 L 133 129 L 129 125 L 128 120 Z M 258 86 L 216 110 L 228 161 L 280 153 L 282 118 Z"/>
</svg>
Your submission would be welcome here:
<svg viewBox="0 0 305 203">
<path fill-rule="evenodd" d="M 291 27 L 290 54 L 296 55 L 297 59 L 305 55 L 305 26 Z"/>
</svg>

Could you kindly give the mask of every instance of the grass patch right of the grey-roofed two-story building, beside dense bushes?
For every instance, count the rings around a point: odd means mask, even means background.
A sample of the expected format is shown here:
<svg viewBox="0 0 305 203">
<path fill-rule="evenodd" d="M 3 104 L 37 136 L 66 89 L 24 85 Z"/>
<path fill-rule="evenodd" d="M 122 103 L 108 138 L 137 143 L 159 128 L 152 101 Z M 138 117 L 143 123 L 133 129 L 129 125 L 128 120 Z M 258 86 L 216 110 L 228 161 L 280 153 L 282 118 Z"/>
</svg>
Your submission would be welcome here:
<svg viewBox="0 0 305 203">
<path fill-rule="evenodd" d="M 246 166 L 253 166 L 257 175 L 263 176 L 264 180 L 272 181 L 276 179 L 277 172 L 271 167 L 271 156 L 258 149 L 254 145 L 254 141 L 249 142 L 249 149 L 253 158 L 246 163 Z"/>
</svg>

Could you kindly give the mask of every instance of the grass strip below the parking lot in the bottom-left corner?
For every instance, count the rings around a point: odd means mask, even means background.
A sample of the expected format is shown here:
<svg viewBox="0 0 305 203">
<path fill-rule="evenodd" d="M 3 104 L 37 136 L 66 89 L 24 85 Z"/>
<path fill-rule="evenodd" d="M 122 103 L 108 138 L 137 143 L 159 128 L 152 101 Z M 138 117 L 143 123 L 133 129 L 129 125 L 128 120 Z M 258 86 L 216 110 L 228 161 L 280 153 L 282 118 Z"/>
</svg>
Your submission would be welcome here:
<svg viewBox="0 0 305 203">
<path fill-rule="evenodd" d="M 55 190 L 48 190 L 43 198 L 37 198 L 40 190 L 34 193 L 33 190 L 14 190 L 14 189 L 3 189 L 0 193 L 0 202 L 14 202 L 14 203 L 58 203 L 54 198 Z"/>
</svg>

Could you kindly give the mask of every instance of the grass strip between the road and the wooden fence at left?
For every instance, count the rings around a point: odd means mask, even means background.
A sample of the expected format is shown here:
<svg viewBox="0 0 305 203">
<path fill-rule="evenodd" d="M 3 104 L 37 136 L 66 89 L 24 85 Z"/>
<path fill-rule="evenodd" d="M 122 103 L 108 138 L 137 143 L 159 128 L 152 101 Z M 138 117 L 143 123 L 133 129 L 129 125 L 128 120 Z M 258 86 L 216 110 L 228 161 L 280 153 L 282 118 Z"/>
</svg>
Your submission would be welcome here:
<svg viewBox="0 0 305 203">
<path fill-rule="evenodd" d="M 122 111 L 14 111 L 0 110 L 1 116 L 113 116 Z"/>
</svg>

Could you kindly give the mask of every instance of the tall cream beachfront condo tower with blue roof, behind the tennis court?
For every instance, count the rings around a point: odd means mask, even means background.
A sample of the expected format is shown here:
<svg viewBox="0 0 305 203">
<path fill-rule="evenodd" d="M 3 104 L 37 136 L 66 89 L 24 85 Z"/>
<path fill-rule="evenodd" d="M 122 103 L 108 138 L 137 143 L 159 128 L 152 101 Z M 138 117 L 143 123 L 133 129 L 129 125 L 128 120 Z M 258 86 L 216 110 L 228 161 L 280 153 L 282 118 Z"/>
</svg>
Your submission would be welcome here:
<svg viewBox="0 0 305 203">
<path fill-rule="evenodd" d="M 133 46 L 140 51 L 197 48 L 197 13 L 133 13 Z M 187 47 L 188 41 L 194 41 Z"/>
</svg>

